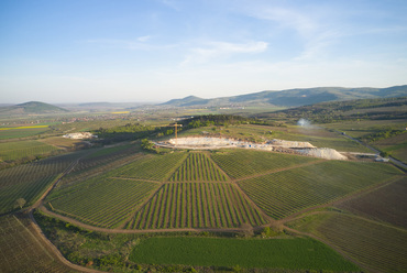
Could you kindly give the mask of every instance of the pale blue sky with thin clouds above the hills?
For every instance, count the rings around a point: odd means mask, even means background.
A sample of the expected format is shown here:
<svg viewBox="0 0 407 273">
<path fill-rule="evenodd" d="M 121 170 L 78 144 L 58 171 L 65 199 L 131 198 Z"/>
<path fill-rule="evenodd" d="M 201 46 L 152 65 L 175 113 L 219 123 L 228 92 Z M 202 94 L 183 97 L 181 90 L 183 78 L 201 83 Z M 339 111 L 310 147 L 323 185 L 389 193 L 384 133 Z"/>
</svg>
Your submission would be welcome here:
<svg viewBox="0 0 407 273">
<path fill-rule="evenodd" d="M 405 0 L 2 0 L 0 103 L 407 84 Z"/>
</svg>

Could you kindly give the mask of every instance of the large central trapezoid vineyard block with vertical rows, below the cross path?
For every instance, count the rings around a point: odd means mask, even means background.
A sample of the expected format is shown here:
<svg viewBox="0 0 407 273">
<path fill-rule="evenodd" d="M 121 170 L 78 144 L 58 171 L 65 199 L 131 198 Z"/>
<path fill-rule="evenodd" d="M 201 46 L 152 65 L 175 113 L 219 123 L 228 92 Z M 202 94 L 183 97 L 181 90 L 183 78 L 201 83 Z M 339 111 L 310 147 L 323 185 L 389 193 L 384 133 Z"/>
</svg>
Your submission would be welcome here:
<svg viewBox="0 0 407 273">
<path fill-rule="evenodd" d="M 261 226 L 263 215 L 228 183 L 169 183 L 130 221 L 130 229 Z"/>
</svg>

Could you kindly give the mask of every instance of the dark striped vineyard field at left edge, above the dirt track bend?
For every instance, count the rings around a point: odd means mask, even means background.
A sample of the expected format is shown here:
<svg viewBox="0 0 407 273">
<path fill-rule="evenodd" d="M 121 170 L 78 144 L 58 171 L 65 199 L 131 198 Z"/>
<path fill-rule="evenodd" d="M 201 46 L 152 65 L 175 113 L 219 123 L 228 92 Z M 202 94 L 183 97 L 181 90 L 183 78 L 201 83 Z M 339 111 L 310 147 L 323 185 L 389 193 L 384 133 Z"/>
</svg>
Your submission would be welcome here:
<svg viewBox="0 0 407 273">
<path fill-rule="evenodd" d="M 32 205 L 80 155 L 66 154 L 0 171 L 0 214 L 16 208 L 16 199 Z"/>
</svg>

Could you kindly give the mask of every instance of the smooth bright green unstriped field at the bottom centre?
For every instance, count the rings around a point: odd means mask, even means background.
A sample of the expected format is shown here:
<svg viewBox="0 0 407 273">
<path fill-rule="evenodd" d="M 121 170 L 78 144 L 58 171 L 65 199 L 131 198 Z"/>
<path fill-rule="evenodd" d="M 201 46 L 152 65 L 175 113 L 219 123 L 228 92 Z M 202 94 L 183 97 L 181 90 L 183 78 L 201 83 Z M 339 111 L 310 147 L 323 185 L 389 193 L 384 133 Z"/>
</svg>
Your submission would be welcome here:
<svg viewBox="0 0 407 273">
<path fill-rule="evenodd" d="M 148 238 L 133 249 L 130 260 L 148 264 L 360 271 L 324 244 L 299 238 Z"/>
</svg>

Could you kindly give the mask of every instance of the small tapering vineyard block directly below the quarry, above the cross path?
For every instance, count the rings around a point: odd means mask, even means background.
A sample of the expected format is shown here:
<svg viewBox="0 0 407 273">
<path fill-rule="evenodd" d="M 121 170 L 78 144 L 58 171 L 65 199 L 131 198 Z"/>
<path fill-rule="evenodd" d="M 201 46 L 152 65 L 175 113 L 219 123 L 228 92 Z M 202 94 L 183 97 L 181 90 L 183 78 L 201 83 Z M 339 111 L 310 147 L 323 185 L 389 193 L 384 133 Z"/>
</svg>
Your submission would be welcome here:
<svg viewBox="0 0 407 273">
<path fill-rule="evenodd" d="M 205 153 L 189 153 L 169 181 L 227 181 L 227 176 Z"/>
</svg>

